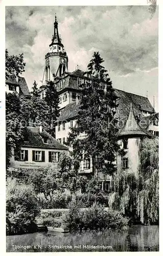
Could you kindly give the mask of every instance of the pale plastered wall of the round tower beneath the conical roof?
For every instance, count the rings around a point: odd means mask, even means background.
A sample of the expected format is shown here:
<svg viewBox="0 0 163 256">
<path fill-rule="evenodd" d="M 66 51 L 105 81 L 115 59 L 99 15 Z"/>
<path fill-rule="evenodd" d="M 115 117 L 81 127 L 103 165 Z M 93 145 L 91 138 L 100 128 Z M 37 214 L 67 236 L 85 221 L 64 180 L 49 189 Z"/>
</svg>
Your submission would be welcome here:
<svg viewBox="0 0 163 256">
<path fill-rule="evenodd" d="M 119 140 L 120 142 L 120 140 Z M 125 151 L 125 156 L 122 157 L 119 153 L 117 154 L 117 172 L 121 170 L 131 171 L 135 175 L 138 173 L 139 167 L 139 145 L 141 143 L 140 138 L 129 138 L 128 139 L 128 149 Z M 123 158 L 128 159 L 128 168 L 123 168 Z"/>
</svg>

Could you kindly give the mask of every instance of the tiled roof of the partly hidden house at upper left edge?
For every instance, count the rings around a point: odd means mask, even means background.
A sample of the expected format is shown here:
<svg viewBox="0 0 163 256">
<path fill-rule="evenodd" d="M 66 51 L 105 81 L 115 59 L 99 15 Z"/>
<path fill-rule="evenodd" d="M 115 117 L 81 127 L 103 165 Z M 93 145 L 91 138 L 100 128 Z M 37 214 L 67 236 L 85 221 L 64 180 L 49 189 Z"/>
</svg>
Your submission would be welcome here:
<svg viewBox="0 0 163 256">
<path fill-rule="evenodd" d="M 18 82 L 16 82 L 16 77 L 9 77 L 6 80 L 6 83 L 11 83 L 11 84 L 16 84 L 17 86 L 19 86 L 20 89 L 20 95 L 25 95 L 25 96 L 30 96 L 30 92 L 27 86 L 27 82 L 26 79 L 24 77 L 20 77 L 18 78 Z"/>
</svg>

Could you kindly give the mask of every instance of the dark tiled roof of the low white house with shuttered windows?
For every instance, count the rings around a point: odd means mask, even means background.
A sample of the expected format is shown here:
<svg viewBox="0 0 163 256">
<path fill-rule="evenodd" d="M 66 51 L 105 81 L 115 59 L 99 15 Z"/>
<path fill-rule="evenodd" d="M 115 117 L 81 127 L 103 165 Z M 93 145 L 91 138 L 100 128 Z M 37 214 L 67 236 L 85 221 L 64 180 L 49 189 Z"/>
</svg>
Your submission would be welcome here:
<svg viewBox="0 0 163 256">
<path fill-rule="evenodd" d="M 24 134 L 25 140 L 27 140 L 24 142 L 24 146 L 68 150 L 46 131 L 43 130 L 42 133 L 39 133 L 39 127 L 27 127 Z M 42 138 L 44 137 L 48 138 L 48 143 L 43 142 Z"/>
</svg>

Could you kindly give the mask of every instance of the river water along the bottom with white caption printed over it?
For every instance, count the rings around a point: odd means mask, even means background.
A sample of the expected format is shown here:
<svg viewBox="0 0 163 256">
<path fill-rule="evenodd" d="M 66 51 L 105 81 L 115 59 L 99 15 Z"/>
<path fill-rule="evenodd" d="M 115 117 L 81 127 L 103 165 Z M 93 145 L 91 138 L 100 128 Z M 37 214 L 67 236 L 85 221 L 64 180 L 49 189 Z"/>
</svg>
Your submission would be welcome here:
<svg viewBox="0 0 163 256">
<path fill-rule="evenodd" d="M 36 232 L 7 236 L 7 252 L 27 251 L 159 251 L 159 227 L 133 225 L 125 231 Z"/>
</svg>

